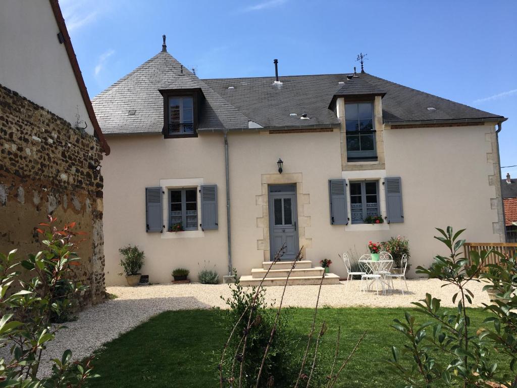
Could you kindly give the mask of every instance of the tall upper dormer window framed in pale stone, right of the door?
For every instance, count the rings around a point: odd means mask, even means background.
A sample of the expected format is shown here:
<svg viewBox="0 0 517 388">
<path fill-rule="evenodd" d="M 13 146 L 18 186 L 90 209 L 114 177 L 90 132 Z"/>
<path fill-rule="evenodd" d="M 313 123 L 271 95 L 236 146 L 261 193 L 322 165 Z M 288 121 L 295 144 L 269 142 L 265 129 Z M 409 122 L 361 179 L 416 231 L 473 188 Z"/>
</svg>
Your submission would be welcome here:
<svg viewBox="0 0 517 388">
<path fill-rule="evenodd" d="M 372 160 L 375 151 L 373 103 L 345 104 L 346 151 L 348 160 Z"/>
</svg>

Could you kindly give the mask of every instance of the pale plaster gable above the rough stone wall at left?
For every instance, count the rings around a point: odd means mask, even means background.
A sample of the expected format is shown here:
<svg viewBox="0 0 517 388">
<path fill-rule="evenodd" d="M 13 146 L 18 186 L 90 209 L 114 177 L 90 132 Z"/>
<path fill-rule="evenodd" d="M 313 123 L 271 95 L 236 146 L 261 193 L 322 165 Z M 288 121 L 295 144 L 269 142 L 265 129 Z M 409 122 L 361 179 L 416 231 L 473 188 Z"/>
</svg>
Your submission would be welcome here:
<svg viewBox="0 0 517 388">
<path fill-rule="evenodd" d="M 0 2 L 0 84 L 93 135 L 48 1 Z"/>
</svg>

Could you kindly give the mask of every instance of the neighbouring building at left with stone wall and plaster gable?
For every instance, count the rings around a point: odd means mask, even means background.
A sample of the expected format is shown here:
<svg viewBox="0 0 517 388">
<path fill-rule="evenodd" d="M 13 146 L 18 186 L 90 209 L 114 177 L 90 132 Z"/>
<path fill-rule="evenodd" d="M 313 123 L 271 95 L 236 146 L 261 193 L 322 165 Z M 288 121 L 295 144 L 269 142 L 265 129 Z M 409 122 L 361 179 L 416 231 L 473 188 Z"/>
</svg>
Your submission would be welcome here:
<svg viewBox="0 0 517 388">
<path fill-rule="evenodd" d="M 77 222 L 83 304 L 104 300 L 98 168 L 109 152 L 57 0 L 0 2 L 0 251 L 40 250 L 48 214 Z"/>
</svg>

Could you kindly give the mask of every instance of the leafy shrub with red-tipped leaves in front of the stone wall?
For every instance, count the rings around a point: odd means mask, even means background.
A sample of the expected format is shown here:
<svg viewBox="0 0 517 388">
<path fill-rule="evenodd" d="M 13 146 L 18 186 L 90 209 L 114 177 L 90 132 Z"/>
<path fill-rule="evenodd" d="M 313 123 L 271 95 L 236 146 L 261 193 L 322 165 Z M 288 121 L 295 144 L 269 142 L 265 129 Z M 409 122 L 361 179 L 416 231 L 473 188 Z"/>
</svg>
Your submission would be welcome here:
<svg viewBox="0 0 517 388">
<path fill-rule="evenodd" d="M 3 354 L 9 354 L 8 360 L 0 357 L 2 387 L 72 388 L 85 386 L 88 379 L 95 377 L 91 359 L 73 362 L 70 350 L 52 360 L 52 377 L 37 377 L 40 360 L 48 358 L 43 355 L 45 348 L 63 327 L 53 325 L 51 319 L 62 317 L 75 296 L 87 289 L 71 280 L 72 268 L 79 265 L 73 253 L 78 244 L 75 236 L 84 233 L 72 231 L 75 222 L 58 230 L 53 225 L 56 219 L 49 219 L 37 229 L 44 237 L 45 248 L 36 255 L 20 261 L 16 249 L 7 255 L 0 253 L 0 344 L 8 349 Z M 25 269 L 23 276 L 19 266 Z M 16 290 L 10 289 L 13 282 Z"/>
</svg>

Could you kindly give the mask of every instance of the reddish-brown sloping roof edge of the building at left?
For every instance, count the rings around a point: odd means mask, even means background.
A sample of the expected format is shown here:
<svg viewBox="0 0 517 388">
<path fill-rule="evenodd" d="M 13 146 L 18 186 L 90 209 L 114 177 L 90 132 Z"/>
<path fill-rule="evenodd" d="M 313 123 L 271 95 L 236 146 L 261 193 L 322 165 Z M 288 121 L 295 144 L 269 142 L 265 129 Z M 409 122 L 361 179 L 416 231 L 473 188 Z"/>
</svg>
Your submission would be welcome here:
<svg viewBox="0 0 517 388">
<path fill-rule="evenodd" d="M 81 97 L 83 99 L 86 111 L 88 112 L 88 117 L 90 119 L 90 122 L 92 122 L 92 125 L 94 126 L 94 133 L 97 139 L 99 140 L 104 153 L 106 155 L 109 155 L 110 146 L 106 142 L 106 139 L 102 134 L 102 130 L 100 129 L 99 123 L 97 122 L 95 111 L 92 107 L 92 101 L 90 101 L 90 98 L 88 96 L 88 91 L 86 89 L 86 85 L 81 74 L 81 69 L 79 68 L 79 63 L 77 62 L 77 57 L 75 56 L 75 52 L 73 51 L 72 41 L 70 40 L 70 35 L 68 35 L 68 29 L 66 28 L 65 19 L 63 19 L 63 14 L 61 13 L 61 9 L 59 8 L 59 3 L 57 0 L 49 1 L 52 7 L 52 12 L 54 13 L 54 18 L 56 19 L 56 23 L 59 28 L 59 32 L 63 35 L 63 43 L 65 44 L 68 59 L 70 61 L 70 65 L 72 66 L 73 74 L 79 86 L 79 90 L 81 91 Z"/>
</svg>

